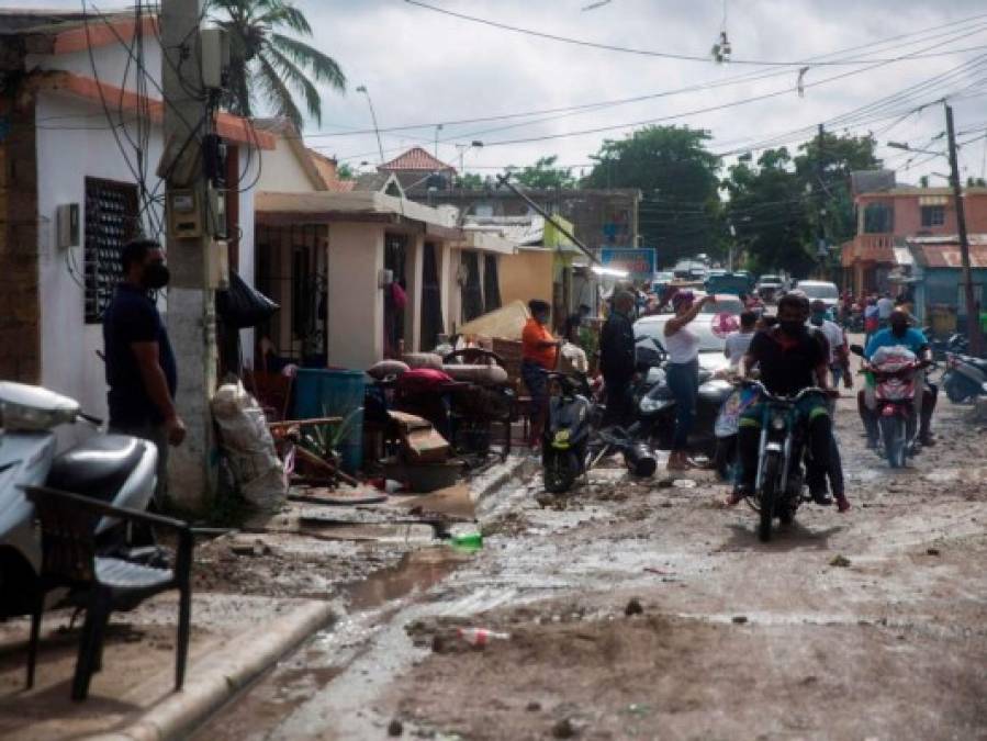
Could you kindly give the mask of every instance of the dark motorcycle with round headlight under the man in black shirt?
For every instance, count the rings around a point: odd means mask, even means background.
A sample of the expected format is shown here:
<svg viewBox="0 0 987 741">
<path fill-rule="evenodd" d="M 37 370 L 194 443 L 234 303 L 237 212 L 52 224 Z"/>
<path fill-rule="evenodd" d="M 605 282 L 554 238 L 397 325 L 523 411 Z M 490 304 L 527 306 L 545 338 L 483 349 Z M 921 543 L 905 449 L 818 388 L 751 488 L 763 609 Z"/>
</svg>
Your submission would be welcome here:
<svg viewBox="0 0 987 741">
<path fill-rule="evenodd" d="M 758 473 L 751 504 L 760 515 L 758 537 L 762 542 L 767 542 L 774 519 L 789 525 L 798 506 L 811 498 L 806 493 L 801 465 L 805 425 L 799 424 L 796 409 L 809 394 L 826 392 L 810 386 L 786 398 L 773 395 L 760 381 L 744 381 L 743 386 L 755 390 L 758 398 L 763 402 Z"/>
</svg>

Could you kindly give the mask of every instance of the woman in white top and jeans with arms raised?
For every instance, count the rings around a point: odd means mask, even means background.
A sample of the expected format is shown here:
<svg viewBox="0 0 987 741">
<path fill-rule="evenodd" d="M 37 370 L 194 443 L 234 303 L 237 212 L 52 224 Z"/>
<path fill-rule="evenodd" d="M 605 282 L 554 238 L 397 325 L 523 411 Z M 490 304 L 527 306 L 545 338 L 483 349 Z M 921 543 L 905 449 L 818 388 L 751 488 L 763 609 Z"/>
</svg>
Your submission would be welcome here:
<svg viewBox="0 0 987 741">
<path fill-rule="evenodd" d="M 696 395 L 699 392 L 699 337 L 688 325 L 698 316 L 703 306 L 716 303 L 713 295 L 695 300 L 692 291 L 682 291 L 672 299 L 675 316 L 665 323 L 664 346 L 669 353 L 665 364 L 665 379 L 669 391 L 675 397 L 675 435 L 672 438 L 672 453 L 669 456 L 669 470 L 687 469 L 688 456 L 686 447 L 696 415 Z"/>
</svg>

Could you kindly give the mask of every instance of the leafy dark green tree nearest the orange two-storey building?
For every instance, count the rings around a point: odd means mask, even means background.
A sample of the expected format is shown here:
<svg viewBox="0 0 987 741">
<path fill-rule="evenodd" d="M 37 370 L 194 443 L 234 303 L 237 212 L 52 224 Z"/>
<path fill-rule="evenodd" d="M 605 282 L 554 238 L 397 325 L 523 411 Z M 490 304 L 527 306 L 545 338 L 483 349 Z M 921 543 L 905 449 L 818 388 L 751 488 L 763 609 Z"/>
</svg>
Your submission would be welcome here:
<svg viewBox="0 0 987 741">
<path fill-rule="evenodd" d="M 881 166 L 870 137 L 825 134 L 787 148 L 767 149 L 756 164 L 739 157 L 722 188 L 726 214 L 755 272 L 808 274 L 817 265 L 820 235 L 839 245 L 856 233 L 850 173 Z"/>
</svg>

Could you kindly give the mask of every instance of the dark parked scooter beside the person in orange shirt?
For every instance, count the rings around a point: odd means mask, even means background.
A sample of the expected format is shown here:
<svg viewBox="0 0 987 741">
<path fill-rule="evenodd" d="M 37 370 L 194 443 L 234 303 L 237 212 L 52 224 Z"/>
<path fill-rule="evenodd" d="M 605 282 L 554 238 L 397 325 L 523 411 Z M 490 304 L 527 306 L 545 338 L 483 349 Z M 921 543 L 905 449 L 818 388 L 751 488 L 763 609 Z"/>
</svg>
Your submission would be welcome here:
<svg viewBox="0 0 987 741">
<path fill-rule="evenodd" d="M 585 378 L 550 371 L 548 419 L 541 439 L 545 490 L 563 494 L 586 472 L 592 404 Z"/>
</svg>

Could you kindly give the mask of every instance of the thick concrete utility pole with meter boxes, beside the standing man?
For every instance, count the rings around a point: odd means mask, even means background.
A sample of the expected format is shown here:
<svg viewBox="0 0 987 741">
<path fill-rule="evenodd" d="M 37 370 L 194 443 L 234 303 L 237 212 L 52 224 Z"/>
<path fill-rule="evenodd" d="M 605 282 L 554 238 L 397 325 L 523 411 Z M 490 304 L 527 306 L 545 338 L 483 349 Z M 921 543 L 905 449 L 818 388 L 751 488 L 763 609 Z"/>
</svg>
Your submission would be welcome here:
<svg viewBox="0 0 987 741">
<path fill-rule="evenodd" d="M 161 0 L 161 46 L 167 57 L 161 64 L 165 143 L 172 154 L 181 153 L 176 159 L 191 155 L 183 165 L 166 169 L 166 247 L 171 269 L 168 335 L 178 361 L 176 406 L 188 428 L 184 442 L 171 450 L 168 493 L 176 505 L 193 512 L 201 510 L 214 491 L 209 402 L 216 388 L 218 359 L 215 291 L 210 285 L 211 260 L 217 258 L 218 247 L 209 228 L 203 168 L 194 164 L 202 135 L 213 130 L 202 91 L 201 19 L 202 0 Z"/>
</svg>

